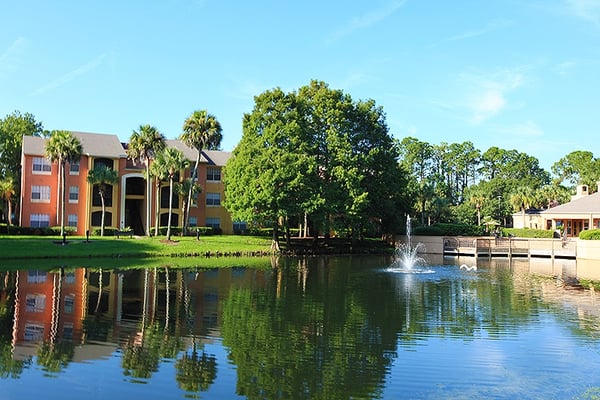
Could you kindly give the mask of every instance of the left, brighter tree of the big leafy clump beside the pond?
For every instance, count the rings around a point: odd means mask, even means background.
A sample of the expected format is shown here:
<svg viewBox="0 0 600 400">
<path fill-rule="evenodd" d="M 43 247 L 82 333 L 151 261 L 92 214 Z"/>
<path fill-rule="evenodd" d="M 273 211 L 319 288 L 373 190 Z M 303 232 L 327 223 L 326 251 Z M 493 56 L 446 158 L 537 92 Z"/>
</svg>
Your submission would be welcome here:
<svg viewBox="0 0 600 400">
<path fill-rule="evenodd" d="M 316 188 L 307 187 L 316 165 L 308 154 L 309 139 L 302 140 L 297 103 L 294 94 L 279 88 L 257 96 L 223 174 L 225 207 L 234 220 L 272 226 L 274 248 L 279 220 L 308 209 L 309 197 L 318 196 Z"/>
</svg>

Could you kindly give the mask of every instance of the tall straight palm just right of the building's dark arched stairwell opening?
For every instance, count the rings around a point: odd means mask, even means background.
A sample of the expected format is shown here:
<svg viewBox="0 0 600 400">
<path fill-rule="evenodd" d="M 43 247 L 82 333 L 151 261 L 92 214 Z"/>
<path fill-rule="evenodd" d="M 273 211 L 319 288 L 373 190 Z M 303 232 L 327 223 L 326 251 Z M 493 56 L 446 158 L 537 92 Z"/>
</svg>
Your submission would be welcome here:
<svg viewBox="0 0 600 400">
<path fill-rule="evenodd" d="M 154 126 L 140 125 L 133 131 L 127 146 L 127 156 L 132 160 L 140 160 L 146 168 L 146 235 L 150 236 L 150 209 L 152 207 L 152 183 L 149 179 L 150 160 L 157 152 L 165 148 L 165 137 Z M 158 223 L 158 221 L 157 221 Z"/>
</svg>

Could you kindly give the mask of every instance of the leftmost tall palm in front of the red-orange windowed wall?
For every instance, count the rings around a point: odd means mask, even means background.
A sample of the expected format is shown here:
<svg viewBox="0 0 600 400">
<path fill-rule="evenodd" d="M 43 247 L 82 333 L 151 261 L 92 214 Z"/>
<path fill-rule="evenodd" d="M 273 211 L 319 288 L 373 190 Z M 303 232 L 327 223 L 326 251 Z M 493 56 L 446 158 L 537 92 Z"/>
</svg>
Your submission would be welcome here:
<svg viewBox="0 0 600 400">
<path fill-rule="evenodd" d="M 65 166 L 67 162 L 79 161 L 83 149 L 81 142 L 69 131 L 52 131 L 50 139 L 46 142 L 46 156 L 50 161 L 57 162 L 59 168 L 59 203 L 61 204 L 60 212 L 60 235 L 65 234 Z"/>
</svg>

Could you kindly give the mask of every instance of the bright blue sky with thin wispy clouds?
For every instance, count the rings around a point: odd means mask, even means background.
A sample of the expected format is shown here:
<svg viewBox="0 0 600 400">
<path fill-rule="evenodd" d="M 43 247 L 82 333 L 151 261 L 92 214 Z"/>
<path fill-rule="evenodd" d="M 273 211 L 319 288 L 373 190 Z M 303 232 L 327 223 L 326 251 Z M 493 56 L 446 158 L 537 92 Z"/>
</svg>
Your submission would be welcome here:
<svg viewBox="0 0 600 400">
<path fill-rule="evenodd" d="M 49 130 L 175 138 L 206 109 L 232 150 L 255 95 L 318 79 L 397 138 L 600 156 L 600 0 L 20 0 L 0 32 L 0 116 Z"/>
</svg>

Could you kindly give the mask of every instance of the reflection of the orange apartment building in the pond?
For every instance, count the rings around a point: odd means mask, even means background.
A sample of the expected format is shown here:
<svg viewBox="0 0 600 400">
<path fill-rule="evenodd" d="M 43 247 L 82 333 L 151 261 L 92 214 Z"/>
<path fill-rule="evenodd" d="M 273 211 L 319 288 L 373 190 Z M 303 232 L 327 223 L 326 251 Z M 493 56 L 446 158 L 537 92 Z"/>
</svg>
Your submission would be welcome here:
<svg viewBox="0 0 600 400">
<path fill-rule="evenodd" d="M 39 356 L 42 343 L 69 343 L 72 361 L 83 361 L 143 346 L 151 326 L 190 341 L 218 337 L 222 297 L 236 282 L 264 286 L 265 275 L 244 268 L 18 270 L 5 273 L 0 300 L 9 312 L 14 306 L 14 359 Z"/>
</svg>

